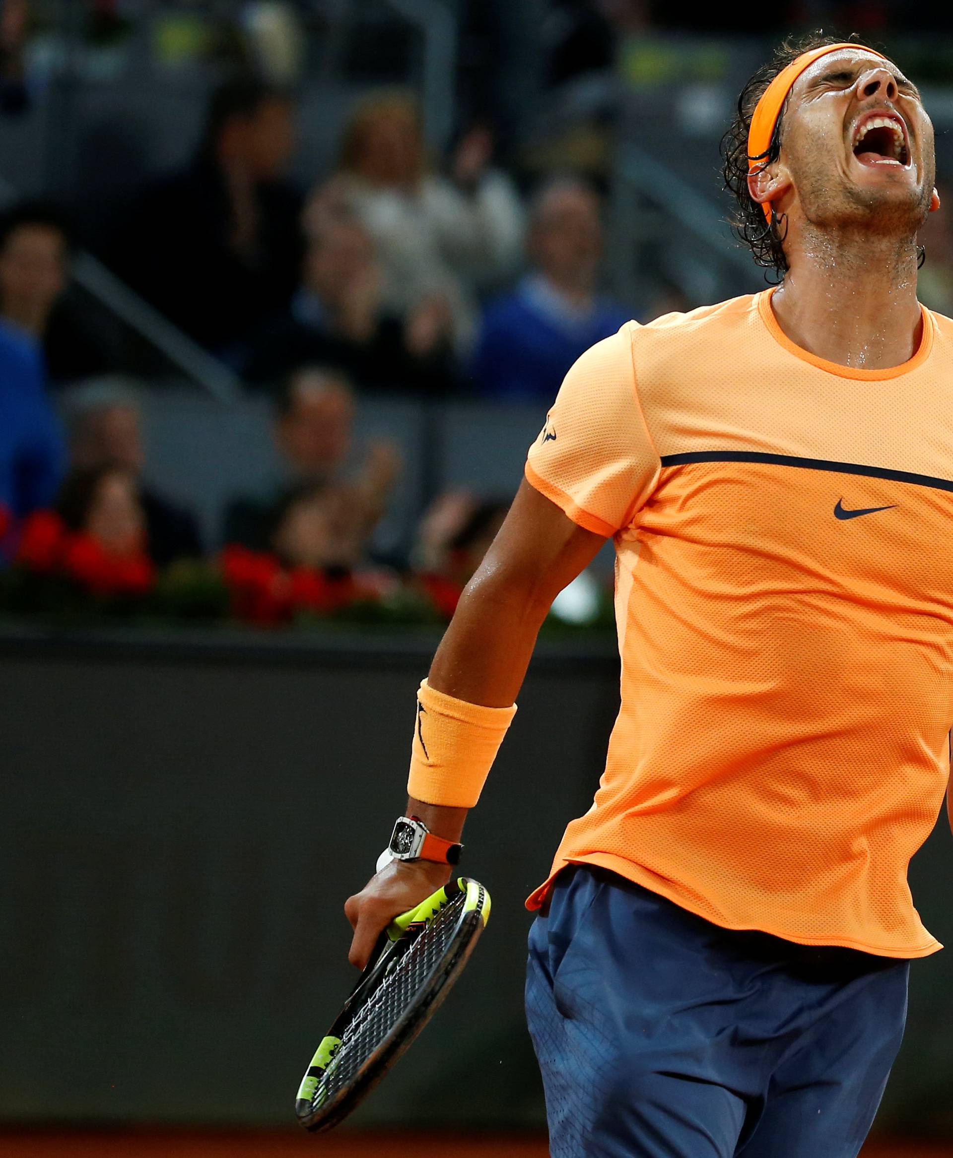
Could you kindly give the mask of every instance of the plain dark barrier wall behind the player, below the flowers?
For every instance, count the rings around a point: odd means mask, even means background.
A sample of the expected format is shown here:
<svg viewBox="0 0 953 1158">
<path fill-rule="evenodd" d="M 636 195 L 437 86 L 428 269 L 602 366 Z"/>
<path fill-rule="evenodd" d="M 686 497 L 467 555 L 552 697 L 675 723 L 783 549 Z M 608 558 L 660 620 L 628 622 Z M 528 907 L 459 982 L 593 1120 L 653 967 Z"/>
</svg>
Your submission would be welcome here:
<svg viewBox="0 0 953 1158">
<path fill-rule="evenodd" d="M 342 904 L 403 806 L 434 642 L 0 640 L 0 1116 L 291 1121 L 351 983 Z M 542 1120 L 522 900 L 588 807 L 616 705 L 610 642 L 541 650 L 467 830 L 486 936 L 355 1122 Z M 912 878 L 953 941 L 950 845 L 941 826 Z M 882 1117 L 953 1137 L 948 960 L 914 966 Z"/>
</svg>

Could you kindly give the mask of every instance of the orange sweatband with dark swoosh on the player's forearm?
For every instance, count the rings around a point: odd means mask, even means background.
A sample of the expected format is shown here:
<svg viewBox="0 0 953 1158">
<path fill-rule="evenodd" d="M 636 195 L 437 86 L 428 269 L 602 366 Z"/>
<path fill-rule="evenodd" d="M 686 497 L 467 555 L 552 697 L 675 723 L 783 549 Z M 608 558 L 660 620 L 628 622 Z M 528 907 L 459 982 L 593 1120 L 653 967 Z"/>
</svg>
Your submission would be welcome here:
<svg viewBox="0 0 953 1158">
<path fill-rule="evenodd" d="M 515 714 L 515 704 L 470 704 L 424 680 L 417 692 L 408 794 L 424 804 L 472 808 Z"/>
</svg>

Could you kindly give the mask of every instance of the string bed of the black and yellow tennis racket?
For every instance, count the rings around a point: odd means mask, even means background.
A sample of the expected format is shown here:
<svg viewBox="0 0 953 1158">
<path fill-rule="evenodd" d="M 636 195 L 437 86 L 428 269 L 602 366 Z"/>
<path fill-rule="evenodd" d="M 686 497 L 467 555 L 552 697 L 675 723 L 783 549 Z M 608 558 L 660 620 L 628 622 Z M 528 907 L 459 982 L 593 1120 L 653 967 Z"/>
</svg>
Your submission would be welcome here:
<svg viewBox="0 0 953 1158">
<path fill-rule="evenodd" d="M 463 899 L 445 906 L 412 941 L 342 1035 L 311 1098 L 314 1108 L 346 1086 L 413 1003 L 456 932 Z"/>
</svg>

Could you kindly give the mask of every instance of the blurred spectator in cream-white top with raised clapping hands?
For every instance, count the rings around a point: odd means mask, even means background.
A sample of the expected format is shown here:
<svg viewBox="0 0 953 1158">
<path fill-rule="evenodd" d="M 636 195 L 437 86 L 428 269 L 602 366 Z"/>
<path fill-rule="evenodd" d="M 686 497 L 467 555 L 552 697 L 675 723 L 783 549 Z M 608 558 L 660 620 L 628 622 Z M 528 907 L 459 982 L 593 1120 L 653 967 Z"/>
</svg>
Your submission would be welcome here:
<svg viewBox="0 0 953 1158">
<path fill-rule="evenodd" d="M 457 344 L 471 337 L 475 291 L 499 285 L 520 256 L 522 210 L 510 178 L 491 167 L 492 152 L 490 132 L 474 129 L 450 175 L 432 173 L 417 101 L 381 94 L 351 118 L 331 185 L 377 245 L 389 305 L 401 314 L 430 305 L 427 324 L 450 321 Z M 328 196 L 321 192 L 313 211 Z"/>
</svg>

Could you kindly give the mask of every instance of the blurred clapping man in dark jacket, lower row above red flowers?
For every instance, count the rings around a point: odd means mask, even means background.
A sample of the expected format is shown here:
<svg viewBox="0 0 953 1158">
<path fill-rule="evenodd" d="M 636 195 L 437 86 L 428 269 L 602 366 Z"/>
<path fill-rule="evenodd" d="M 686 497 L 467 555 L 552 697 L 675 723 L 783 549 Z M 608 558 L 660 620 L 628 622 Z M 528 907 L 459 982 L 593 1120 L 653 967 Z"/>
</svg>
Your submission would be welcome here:
<svg viewBox="0 0 953 1158">
<path fill-rule="evenodd" d="M 387 507 L 399 471 L 396 448 L 369 445 L 365 461 L 350 476 L 353 456 L 354 397 L 347 380 L 333 371 L 306 367 L 289 378 L 276 420 L 276 441 L 285 477 L 270 493 L 233 500 L 225 515 L 225 541 L 269 550 L 289 494 L 302 486 L 349 486 L 349 501 L 366 542 Z"/>
</svg>

